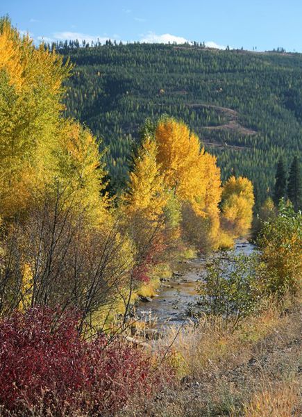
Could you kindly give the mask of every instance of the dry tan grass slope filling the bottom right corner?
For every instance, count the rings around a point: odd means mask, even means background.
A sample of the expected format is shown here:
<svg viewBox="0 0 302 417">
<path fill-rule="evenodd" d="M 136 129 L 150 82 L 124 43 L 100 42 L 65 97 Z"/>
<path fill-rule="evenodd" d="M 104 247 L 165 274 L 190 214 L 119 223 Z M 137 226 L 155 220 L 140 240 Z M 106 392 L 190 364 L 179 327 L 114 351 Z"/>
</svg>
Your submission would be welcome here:
<svg viewBox="0 0 302 417">
<path fill-rule="evenodd" d="M 158 342 L 171 343 L 176 336 Z M 152 400 L 140 398 L 123 416 L 297 417 L 301 384 L 301 307 L 287 313 L 271 305 L 230 333 L 219 320 L 203 319 L 178 334 L 168 361 L 178 386 Z"/>
</svg>

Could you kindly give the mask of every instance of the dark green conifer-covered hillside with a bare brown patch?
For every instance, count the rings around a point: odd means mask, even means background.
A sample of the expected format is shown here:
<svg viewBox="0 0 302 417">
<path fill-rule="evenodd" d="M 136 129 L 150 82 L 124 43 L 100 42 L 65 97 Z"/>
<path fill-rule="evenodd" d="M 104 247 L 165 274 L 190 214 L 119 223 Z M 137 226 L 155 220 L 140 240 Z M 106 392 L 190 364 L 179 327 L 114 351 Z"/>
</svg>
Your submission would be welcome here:
<svg viewBox="0 0 302 417">
<path fill-rule="evenodd" d="M 255 184 L 262 202 L 278 158 L 301 151 L 302 55 L 219 51 L 188 44 L 58 44 L 75 64 L 67 115 L 103 143 L 115 186 L 123 183 L 133 142 L 147 117 L 183 119 L 233 171 Z"/>
</svg>

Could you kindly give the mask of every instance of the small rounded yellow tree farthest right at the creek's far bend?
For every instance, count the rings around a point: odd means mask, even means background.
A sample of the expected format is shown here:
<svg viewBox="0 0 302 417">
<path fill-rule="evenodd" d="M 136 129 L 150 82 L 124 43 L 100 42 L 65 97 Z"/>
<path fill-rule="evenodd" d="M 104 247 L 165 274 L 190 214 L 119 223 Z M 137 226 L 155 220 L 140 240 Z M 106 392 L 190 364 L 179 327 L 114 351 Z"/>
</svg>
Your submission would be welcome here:
<svg viewBox="0 0 302 417">
<path fill-rule="evenodd" d="M 234 236 L 247 234 L 253 220 L 253 184 L 245 177 L 230 177 L 222 191 L 224 227 Z"/>
</svg>

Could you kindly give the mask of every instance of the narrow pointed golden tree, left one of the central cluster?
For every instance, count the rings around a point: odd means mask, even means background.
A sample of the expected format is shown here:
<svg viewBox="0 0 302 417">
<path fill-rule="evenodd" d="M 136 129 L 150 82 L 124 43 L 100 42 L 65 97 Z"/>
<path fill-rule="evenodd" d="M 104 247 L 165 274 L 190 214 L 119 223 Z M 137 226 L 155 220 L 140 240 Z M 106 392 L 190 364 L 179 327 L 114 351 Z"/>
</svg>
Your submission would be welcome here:
<svg viewBox="0 0 302 417">
<path fill-rule="evenodd" d="M 146 136 L 134 158 L 128 190 L 121 198 L 124 229 L 134 243 L 133 252 L 138 265 L 131 275 L 135 281 L 147 281 L 149 268 L 160 262 L 162 253 L 167 249 L 165 208 L 169 195 L 156 154 L 156 142 Z"/>
</svg>

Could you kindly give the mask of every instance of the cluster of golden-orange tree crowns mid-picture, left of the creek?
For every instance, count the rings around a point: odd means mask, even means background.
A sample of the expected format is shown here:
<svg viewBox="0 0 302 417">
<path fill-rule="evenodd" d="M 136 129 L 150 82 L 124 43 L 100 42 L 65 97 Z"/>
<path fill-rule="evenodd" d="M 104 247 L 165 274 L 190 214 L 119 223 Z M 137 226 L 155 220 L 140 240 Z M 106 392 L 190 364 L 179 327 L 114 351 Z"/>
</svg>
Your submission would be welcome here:
<svg viewBox="0 0 302 417">
<path fill-rule="evenodd" d="M 176 235 L 198 250 L 219 247 L 221 234 L 228 234 L 230 245 L 246 234 L 254 201 L 246 178 L 231 177 L 222 188 L 215 156 L 188 126 L 167 116 L 144 135 L 123 200 L 128 215 L 140 212 L 149 220 L 174 204 Z"/>
</svg>

